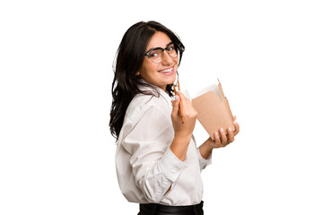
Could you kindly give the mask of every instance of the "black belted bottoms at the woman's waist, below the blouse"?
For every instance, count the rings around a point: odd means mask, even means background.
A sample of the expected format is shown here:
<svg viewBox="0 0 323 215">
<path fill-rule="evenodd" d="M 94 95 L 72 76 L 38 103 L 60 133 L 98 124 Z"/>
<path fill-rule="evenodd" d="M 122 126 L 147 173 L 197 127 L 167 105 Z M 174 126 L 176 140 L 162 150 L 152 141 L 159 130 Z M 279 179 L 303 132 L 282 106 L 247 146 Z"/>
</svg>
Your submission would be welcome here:
<svg viewBox="0 0 323 215">
<path fill-rule="evenodd" d="M 203 201 L 188 206 L 167 206 L 157 203 L 139 204 L 138 215 L 203 215 Z"/>
</svg>

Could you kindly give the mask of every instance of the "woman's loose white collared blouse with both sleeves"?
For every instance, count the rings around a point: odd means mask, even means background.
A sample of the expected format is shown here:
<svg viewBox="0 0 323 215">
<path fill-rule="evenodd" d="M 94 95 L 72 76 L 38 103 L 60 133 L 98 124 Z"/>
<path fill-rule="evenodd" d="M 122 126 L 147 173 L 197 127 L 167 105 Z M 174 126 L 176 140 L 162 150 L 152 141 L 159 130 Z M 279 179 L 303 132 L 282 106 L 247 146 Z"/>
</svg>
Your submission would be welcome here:
<svg viewBox="0 0 323 215">
<path fill-rule="evenodd" d="M 172 153 L 171 98 L 156 89 L 159 97 L 137 94 L 127 107 L 117 142 L 118 184 L 129 202 L 197 204 L 203 196 L 201 170 L 211 163 L 211 156 L 201 157 L 194 137 L 184 161 Z"/>
</svg>

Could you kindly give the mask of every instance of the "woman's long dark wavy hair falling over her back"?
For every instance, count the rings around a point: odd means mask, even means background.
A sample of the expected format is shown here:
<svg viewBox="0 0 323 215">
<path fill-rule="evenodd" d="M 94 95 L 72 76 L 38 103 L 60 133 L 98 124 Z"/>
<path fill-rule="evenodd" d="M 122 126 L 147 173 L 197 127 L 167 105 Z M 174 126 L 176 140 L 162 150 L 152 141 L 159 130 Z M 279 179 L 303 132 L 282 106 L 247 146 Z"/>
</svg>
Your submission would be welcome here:
<svg viewBox="0 0 323 215">
<path fill-rule="evenodd" d="M 110 108 L 109 128 L 110 133 L 118 140 L 118 135 L 123 125 L 127 107 L 130 101 L 138 93 L 155 95 L 152 91 L 139 90 L 140 85 L 151 87 L 141 82 L 140 75 L 135 73 L 144 63 L 144 53 L 150 39 L 156 31 L 162 31 L 170 40 L 177 44 L 176 51 L 179 54 L 179 64 L 185 50 L 179 37 L 159 22 L 137 22 L 131 26 L 123 36 L 118 47 L 113 70 L 112 105 Z M 173 95 L 172 85 L 166 87 L 170 96 Z M 159 95 L 159 94 L 158 94 Z"/>
</svg>

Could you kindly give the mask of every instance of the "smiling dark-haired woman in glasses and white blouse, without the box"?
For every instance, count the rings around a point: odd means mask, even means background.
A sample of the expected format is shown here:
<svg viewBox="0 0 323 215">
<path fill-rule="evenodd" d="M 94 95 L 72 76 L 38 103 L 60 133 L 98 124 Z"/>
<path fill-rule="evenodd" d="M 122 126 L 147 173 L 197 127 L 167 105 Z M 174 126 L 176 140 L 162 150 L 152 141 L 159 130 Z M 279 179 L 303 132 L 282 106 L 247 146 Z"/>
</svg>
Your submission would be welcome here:
<svg viewBox="0 0 323 215">
<path fill-rule="evenodd" d="M 235 122 L 235 132 L 214 131 L 215 141 L 196 148 L 196 110 L 172 89 L 183 52 L 180 39 L 158 22 L 136 23 L 118 47 L 109 125 L 120 189 L 140 203 L 141 215 L 203 214 L 200 172 L 212 150 L 239 133 Z"/>
</svg>

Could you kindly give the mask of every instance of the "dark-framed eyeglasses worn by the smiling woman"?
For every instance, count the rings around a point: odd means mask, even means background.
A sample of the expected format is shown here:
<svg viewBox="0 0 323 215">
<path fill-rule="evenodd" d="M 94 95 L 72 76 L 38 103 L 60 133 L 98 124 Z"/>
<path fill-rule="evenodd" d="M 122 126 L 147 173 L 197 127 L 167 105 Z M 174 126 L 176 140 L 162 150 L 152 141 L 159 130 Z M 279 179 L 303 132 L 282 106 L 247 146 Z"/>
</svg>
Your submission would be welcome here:
<svg viewBox="0 0 323 215">
<path fill-rule="evenodd" d="M 154 47 L 150 49 L 148 52 L 146 52 L 146 54 L 144 54 L 144 56 L 148 56 L 153 61 L 153 63 L 159 64 L 163 60 L 164 50 L 166 50 L 171 57 L 175 58 L 178 56 L 178 49 L 179 46 L 170 42 L 165 48 Z"/>
</svg>

